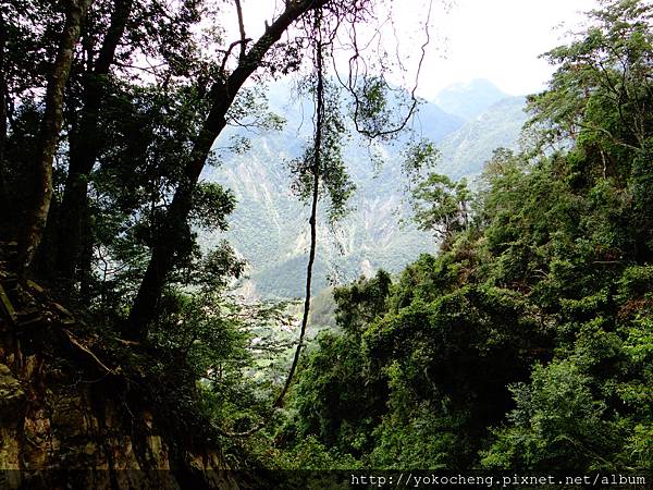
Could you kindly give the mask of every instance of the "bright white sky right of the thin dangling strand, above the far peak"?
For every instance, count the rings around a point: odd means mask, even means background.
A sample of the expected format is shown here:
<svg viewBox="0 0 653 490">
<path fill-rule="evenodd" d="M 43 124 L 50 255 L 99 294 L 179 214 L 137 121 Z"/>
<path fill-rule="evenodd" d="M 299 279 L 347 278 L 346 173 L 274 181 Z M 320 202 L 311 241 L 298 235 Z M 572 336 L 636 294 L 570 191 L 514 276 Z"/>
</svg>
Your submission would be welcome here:
<svg viewBox="0 0 653 490">
<path fill-rule="evenodd" d="M 426 59 L 421 95 L 432 98 L 443 86 L 475 77 L 512 95 L 543 88 L 553 69 L 538 56 L 578 27 L 580 12 L 596 7 L 595 0 L 456 0 L 433 20 L 439 37 Z"/>
</svg>

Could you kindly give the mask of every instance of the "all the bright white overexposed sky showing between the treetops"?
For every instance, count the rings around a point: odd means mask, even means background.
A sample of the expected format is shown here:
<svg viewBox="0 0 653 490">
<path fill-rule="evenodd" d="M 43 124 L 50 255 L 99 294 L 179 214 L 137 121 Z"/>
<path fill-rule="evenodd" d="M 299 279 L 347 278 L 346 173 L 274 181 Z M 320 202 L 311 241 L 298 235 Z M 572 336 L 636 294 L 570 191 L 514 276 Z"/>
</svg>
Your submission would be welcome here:
<svg viewBox="0 0 653 490">
<path fill-rule="evenodd" d="M 432 3 L 430 3 L 432 1 Z M 242 0 L 248 35 L 279 13 L 283 0 Z M 508 95 L 527 95 L 546 86 L 554 68 L 539 58 L 578 32 L 582 12 L 599 0 L 379 0 L 385 49 L 399 53 L 404 71 L 391 81 L 411 88 L 430 15 L 430 42 L 422 62 L 417 94 L 435 99 L 439 90 L 473 78 L 486 78 Z M 383 22 L 385 19 L 392 22 Z M 373 38 L 374 28 L 357 35 Z M 346 39 L 345 39 L 346 42 Z M 372 46 L 378 46 L 374 41 Z M 398 50 L 396 49 L 398 47 Z M 373 48 L 372 48 L 373 49 Z M 338 63 L 347 65 L 350 51 Z M 399 73 L 402 73 L 399 75 Z"/>
</svg>

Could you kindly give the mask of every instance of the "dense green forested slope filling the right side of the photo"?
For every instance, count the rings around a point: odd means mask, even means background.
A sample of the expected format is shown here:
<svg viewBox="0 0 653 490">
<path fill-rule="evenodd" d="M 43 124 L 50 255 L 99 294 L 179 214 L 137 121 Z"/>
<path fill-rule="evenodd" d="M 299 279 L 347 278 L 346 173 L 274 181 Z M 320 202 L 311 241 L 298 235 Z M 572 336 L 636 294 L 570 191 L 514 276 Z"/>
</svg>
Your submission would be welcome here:
<svg viewBox="0 0 653 490">
<path fill-rule="evenodd" d="M 420 218 L 446 232 L 440 254 L 336 290 L 342 331 L 304 363 L 283 454 L 653 469 L 651 15 L 613 3 L 549 53 L 558 69 L 529 99 L 533 151 L 496 151 L 473 198 L 426 184 Z"/>
</svg>

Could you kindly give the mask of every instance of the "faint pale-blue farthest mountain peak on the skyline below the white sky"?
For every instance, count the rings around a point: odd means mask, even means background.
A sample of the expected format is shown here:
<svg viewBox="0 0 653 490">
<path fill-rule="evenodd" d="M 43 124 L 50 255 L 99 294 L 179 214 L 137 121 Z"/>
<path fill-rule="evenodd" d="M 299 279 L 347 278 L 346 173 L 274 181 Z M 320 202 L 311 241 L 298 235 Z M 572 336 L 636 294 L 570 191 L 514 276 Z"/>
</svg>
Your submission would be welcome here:
<svg viewBox="0 0 653 490">
<path fill-rule="evenodd" d="M 486 79 L 449 85 L 438 93 L 434 102 L 445 112 L 465 120 L 482 114 L 493 103 L 508 97 Z"/>
</svg>

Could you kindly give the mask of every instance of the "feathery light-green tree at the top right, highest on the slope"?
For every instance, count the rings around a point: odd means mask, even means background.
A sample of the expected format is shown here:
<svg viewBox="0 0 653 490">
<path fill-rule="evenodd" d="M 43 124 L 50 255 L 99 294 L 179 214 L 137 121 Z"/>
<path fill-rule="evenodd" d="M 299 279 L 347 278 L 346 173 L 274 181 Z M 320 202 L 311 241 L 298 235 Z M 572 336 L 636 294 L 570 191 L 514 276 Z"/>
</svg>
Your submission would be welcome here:
<svg viewBox="0 0 653 490">
<path fill-rule="evenodd" d="M 643 148 L 652 124 L 653 34 L 651 5 L 641 0 L 605 2 L 589 12 L 589 27 L 574 42 L 549 51 L 558 68 L 550 89 L 531 97 L 534 122 L 549 136 L 594 142 L 603 174 L 616 149 Z"/>
</svg>

